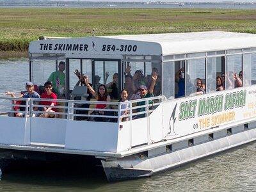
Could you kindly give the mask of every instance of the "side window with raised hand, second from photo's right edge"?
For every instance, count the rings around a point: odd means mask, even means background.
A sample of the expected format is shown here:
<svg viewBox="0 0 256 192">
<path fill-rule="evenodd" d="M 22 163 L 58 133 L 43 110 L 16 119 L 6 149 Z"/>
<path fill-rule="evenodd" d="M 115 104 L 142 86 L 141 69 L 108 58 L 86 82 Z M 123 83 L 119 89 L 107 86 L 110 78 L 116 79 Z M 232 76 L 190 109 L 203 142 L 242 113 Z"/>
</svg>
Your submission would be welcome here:
<svg viewBox="0 0 256 192">
<path fill-rule="evenodd" d="M 225 74 L 226 90 L 243 86 L 242 79 L 239 78 L 240 72 L 242 73 L 242 55 L 236 54 L 227 56 Z"/>
</svg>

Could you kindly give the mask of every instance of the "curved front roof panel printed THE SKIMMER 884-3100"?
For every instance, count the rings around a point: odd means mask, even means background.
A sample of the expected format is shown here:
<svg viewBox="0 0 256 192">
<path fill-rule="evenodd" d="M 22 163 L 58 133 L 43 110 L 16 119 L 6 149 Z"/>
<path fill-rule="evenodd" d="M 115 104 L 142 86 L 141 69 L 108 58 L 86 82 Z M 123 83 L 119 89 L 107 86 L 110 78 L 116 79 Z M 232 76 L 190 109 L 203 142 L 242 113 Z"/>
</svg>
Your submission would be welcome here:
<svg viewBox="0 0 256 192">
<path fill-rule="evenodd" d="M 161 45 L 154 42 L 108 37 L 37 40 L 29 44 L 30 53 L 161 55 L 161 50 Z"/>
</svg>

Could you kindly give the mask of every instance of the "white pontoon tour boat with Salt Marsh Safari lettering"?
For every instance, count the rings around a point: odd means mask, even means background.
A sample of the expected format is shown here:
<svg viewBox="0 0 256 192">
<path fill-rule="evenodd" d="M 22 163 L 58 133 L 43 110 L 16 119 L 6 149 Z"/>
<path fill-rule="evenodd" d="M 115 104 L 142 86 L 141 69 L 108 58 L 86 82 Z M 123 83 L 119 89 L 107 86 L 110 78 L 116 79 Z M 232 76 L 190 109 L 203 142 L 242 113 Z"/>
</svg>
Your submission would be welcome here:
<svg viewBox="0 0 256 192">
<path fill-rule="evenodd" d="M 10 159 L 67 154 L 99 161 L 109 181 L 136 179 L 256 140 L 256 35 L 207 31 L 40 38 L 29 44 L 28 81 L 37 92 L 60 61 L 65 61 L 65 84 L 58 90 L 56 118 L 36 115 L 44 113 L 35 108 L 47 99 L 0 97 L 6 103 L 0 114 L 3 173 Z M 76 84 L 76 69 L 89 76 L 94 89 L 111 84 L 118 74 L 118 96 L 138 81 L 136 71 L 141 76 L 137 85 L 147 87 L 156 72 L 154 97 L 88 99 L 87 87 Z M 24 117 L 13 115 L 15 106 L 24 107 Z"/>
</svg>

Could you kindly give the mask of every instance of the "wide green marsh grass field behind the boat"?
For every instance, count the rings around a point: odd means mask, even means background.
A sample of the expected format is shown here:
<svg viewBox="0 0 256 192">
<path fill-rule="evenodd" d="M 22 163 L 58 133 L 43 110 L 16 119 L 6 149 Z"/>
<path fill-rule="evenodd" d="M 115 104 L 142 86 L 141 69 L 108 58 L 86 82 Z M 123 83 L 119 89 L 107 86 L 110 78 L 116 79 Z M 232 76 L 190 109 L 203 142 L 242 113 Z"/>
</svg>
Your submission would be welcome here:
<svg viewBox="0 0 256 192">
<path fill-rule="evenodd" d="M 190 31 L 256 33 L 255 10 L 0 8 L 0 50 L 26 51 L 38 36 Z"/>
</svg>

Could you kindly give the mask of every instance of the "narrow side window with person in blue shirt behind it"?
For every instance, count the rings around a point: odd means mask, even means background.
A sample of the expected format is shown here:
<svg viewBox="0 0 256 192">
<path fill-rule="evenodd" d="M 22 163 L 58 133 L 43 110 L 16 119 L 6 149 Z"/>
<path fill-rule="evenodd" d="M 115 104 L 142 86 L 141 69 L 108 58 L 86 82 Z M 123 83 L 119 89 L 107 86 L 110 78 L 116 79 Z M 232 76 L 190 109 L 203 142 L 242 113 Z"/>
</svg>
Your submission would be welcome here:
<svg viewBox="0 0 256 192">
<path fill-rule="evenodd" d="M 185 97 L 185 61 L 175 61 L 175 98 Z M 164 88 L 165 89 L 165 88 Z"/>
</svg>

